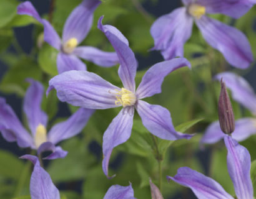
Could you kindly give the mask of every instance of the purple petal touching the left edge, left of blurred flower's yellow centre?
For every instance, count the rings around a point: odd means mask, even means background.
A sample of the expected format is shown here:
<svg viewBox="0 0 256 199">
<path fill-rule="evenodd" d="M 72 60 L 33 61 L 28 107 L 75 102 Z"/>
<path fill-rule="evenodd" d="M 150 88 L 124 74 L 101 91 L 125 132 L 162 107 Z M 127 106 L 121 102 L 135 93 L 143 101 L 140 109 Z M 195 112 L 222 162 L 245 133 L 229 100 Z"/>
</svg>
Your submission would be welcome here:
<svg viewBox="0 0 256 199">
<path fill-rule="evenodd" d="M 0 131 L 4 139 L 9 142 L 17 141 L 19 147 L 33 146 L 31 135 L 24 129 L 4 98 L 0 98 Z"/>
</svg>

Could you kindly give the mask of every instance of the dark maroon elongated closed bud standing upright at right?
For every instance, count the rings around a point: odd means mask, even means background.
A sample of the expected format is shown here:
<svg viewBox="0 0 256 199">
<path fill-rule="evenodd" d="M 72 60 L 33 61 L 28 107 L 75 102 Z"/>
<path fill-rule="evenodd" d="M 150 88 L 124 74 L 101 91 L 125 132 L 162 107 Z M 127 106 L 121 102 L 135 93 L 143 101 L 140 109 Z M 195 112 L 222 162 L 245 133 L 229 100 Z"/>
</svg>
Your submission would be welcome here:
<svg viewBox="0 0 256 199">
<path fill-rule="evenodd" d="M 235 130 L 235 118 L 227 93 L 225 82 L 220 80 L 221 90 L 219 97 L 219 121 L 220 128 L 225 134 L 231 134 Z"/>
</svg>

